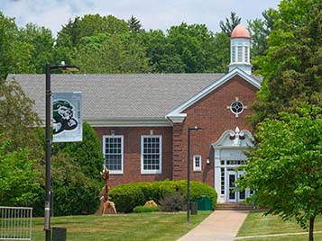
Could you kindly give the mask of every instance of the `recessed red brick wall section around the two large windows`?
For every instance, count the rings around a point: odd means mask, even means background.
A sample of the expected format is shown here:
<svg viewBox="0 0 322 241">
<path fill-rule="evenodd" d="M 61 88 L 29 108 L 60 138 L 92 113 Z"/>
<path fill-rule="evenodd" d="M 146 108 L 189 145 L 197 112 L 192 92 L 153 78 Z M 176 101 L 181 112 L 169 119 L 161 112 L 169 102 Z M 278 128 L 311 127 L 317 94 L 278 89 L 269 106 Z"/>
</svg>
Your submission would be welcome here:
<svg viewBox="0 0 322 241">
<path fill-rule="evenodd" d="M 124 136 L 124 174 L 111 174 L 109 184 L 111 187 L 132 182 L 152 182 L 172 178 L 172 128 L 171 127 L 95 127 L 97 136 L 103 143 L 103 136 Z M 162 173 L 141 174 L 141 136 L 162 136 Z M 102 145 L 103 152 L 103 145 Z M 102 164 L 103 165 L 103 164 Z"/>
</svg>

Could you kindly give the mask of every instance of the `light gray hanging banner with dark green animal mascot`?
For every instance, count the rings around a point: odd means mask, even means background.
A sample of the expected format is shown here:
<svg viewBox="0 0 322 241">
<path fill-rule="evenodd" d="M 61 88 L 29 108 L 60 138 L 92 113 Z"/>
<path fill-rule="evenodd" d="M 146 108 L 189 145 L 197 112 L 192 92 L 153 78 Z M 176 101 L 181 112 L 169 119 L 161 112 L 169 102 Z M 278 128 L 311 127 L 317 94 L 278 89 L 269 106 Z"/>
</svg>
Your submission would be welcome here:
<svg viewBox="0 0 322 241">
<path fill-rule="evenodd" d="M 52 142 L 82 141 L 82 97 L 80 92 L 53 94 Z"/>
</svg>

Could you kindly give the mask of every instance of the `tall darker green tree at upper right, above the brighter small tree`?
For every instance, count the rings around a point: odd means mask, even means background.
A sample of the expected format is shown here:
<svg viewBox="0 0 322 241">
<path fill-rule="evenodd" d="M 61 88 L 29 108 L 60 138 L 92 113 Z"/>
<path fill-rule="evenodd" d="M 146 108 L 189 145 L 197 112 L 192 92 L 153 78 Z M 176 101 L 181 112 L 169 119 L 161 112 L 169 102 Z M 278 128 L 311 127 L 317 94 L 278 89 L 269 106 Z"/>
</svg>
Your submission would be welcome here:
<svg viewBox="0 0 322 241">
<path fill-rule="evenodd" d="M 322 99 L 322 3 L 318 0 L 281 1 L 278 11 L 271 11 L 273 30 L 265 55 L 255 58 L 264 77 L 253 103 L 256 124 L 278 112 L 296 112 L 300 102 Z"/>
</svg>

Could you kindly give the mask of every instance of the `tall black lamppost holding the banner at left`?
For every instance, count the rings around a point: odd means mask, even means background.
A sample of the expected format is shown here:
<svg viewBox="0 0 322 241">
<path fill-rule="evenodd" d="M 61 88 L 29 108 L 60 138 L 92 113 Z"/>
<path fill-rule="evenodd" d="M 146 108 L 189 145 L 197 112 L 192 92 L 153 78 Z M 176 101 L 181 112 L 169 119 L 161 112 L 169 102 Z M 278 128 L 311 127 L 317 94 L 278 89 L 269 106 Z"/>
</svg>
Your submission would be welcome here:
<svg viewBox="0 0 322 241">
<path fill-rule="evenodd" d="M 51 241 L 51 70 L 60 69 L 68 71 L 78 71 L 76 66 L 60 65 L 51 66 L 46 64 L 46 200 L 45 200 L 45 224 L 46 241 Z"/>
</svg>

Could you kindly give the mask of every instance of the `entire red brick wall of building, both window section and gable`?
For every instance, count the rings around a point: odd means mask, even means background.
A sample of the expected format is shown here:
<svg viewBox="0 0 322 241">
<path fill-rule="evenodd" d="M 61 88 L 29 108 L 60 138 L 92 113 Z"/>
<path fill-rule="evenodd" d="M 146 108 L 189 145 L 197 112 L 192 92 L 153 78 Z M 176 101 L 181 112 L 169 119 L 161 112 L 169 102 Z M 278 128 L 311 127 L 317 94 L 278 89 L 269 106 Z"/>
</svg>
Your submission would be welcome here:
<svg viewBox="0 0 322 241">
<path fill-rule="evenodd" d="M 205 96 L 198 103 L 190 106 L 185 113 L 187 118 L 183 123 L 173 124 L 171 127 L 97 127 L 98 138 L 103 142 L 104 135 L 124 136 L 124 174 L 111 174 L 110 185 L 121 183 L 159 181 L 164 179 L 187 179 L 187 129 L 198 126 L 203 130 L 191 131 L 190 142 L 190 177 L 191 180 L 208 183 L 214 186 L 214 153 L 211 144 L 215 143 L 226 129 L 252 130 L 246 124 L 249 109 L 235 117 L 227 106 L 235 101 L 235 97 L 244 105 L 250 105 L 255 99 L 257 89 L 239 76 L 220 86 L 211 94 Z M 141 136 L 162 136 L 162 173 L 141 174 Z M 173 139 L 173 146 L 172 146 Z M 173 148 L 173 154 L 172 154 Z M 194 155 L 202 156 L 202 172 L 193 172 Z M 210 164 L 206 164 L 206 159 Z M 173 159 L 173 162 L 172 162 Z"/>
</svg>

